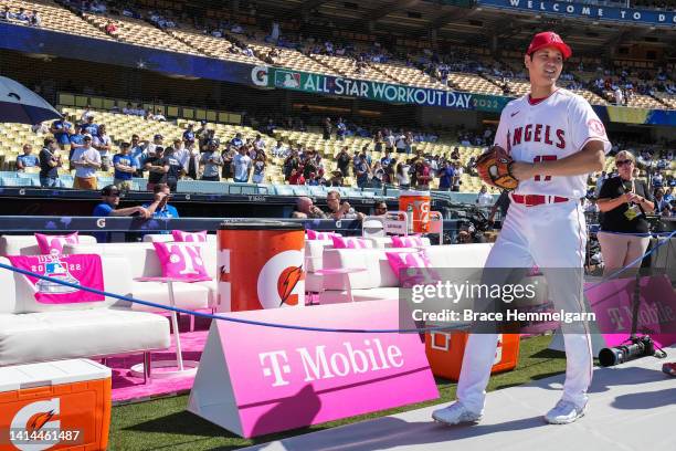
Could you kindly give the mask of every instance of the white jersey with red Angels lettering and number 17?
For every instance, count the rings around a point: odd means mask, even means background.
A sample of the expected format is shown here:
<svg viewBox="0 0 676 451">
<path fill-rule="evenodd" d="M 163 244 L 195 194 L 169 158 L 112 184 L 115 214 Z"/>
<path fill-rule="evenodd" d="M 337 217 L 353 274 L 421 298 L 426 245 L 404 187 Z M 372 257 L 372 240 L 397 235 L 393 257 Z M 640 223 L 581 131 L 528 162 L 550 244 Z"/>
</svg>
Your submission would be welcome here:
<svg viewBox="0 0 676 451">
<path fill-rule="evenodd" d="M 605 127 L 584 97 L 558 88 L 549 97 L 532 103 L 529 95 L 511 101 L 503 109 L 495 144 L 515 161 L 537 162 L 568 157 L 590 140 L 611 144 Z M 536 176 L 520 180 L 517 195 L 550 195 L 581 198 L 587 195 L 588 175 L 571 177 Z"/>
</svg>

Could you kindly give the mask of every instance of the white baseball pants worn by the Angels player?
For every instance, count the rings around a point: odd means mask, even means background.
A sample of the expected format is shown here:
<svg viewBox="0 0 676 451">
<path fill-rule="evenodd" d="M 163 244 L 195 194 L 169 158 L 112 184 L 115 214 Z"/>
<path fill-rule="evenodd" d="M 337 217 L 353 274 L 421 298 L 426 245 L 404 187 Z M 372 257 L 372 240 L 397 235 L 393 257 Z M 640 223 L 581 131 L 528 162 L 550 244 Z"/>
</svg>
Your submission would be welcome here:
<svg viewBox="0 0 676 451">
<path fill-rule="evenodd" d="M 587 227 L 579 201 L 535 207 L 511 202 L 485 268 L 530 269 L 536 264 L 547 280 L 554 310 L 583 312 L 585 245 Z M 457 399 L 475 412 L 484 410 L 497 339 L 497 334 L 471 334 L 465 347 Z M 583 407 L 593 370 L 588 325 L 578 323 L 568 333 L 564 327 L 563 340 L 567 365 L 562 399 Z"/>
</svg>

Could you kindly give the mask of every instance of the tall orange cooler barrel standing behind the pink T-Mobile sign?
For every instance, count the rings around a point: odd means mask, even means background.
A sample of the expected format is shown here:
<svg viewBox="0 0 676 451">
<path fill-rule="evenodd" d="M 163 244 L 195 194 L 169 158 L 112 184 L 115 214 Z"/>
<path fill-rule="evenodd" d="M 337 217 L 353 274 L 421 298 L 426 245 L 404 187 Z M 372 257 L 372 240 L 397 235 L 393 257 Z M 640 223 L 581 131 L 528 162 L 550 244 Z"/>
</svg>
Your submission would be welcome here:
<svg viewBox="0 0 676 451">
<path fill-rule="evenodd" d="M 223 222 L 219 312 L 305 305 L 305 229 L 282 221 Z"/>
</svg>

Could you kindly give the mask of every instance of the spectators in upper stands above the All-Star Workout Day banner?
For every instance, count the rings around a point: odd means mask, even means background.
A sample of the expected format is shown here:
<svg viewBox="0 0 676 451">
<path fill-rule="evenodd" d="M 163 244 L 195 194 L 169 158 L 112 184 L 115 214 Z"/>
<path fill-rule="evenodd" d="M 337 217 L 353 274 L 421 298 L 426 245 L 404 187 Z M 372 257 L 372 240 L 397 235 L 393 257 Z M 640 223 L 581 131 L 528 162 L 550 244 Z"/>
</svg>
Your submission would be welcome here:
<svg viewBox="0 0 676 451">
<path fill-rule="evenodd" d="M 329 38 L 315 29 L 315 33 L 307 33 L 308 30 L 299 25 L 297 19 L 285 22 L 284 27 L 291 30 L 283 30 L 278 21 L 273 20 L 266 24 L 266 35 L 264 41 L 274 44 L 267 51 L 256 53 L 250 42 L 261 39 L 260 30 L 242 25 L 233 18 L 231 20 L 204 18 L 200 14 L 189 13 L 188 9 L 173 11 L 142 10 L 126 0 L 57 0 L 60 3 L 77 12 L 96 14 L 118 14 L 129 18 L 140 19 L 159 29 L 172 28 L 194 28 L 204 34 L 214 38 L 225 38 L 233 45 L 226 48 L 226 52 L 249 56 L 260 57 L 268 64 L 284 64 L 284 57 L 279 49 L 295 49 L 307 55 L 329 55 L 342 56 L 353 62 L 352 74 L 358 76 L 366 72 L 367 67 L 376 63 L 399 62 L 405 63 L 411 67 L 421 70 L 431 80 L 436 80 L 451 88 L 462 88 L 454 85 L 450 78 L 451 73 L 473 73 L 486 77 L 500 88 L 504 95 L 516 95 L 518 88 L 510 86 L 510 81 L 527 80 L 527 73 L 518 61 L 507 64 L 503 61 L 487 61 L 472 53 L 471 50 L 457 48 L 446 53 L 437 53 L 425 49 L 420 54 L 411 54 L 398 49 L 388 49 L 382 43 L 374 41 L 369 44 L 356 44 L 349 40 Z M 635 2 L 634 2 L 635 3 Z M 643 2 L 642 6 L 663 7 L 659 1 Z M 635 6 L 635 4 L 633 4 Z M 244 8 L 245 9 L 245 8 Z M 255 14 L 255 4 L 249 4 L 249 14 Z M 0 19 L 24 21 L 30 24 L 40 25 L 41 19 L 36 11 L 10 11 L 6 7 Z M 313 21 L 321 20 L 314 18 Z M 332 24 L 326 24 L 330 30 Z M 105 27 L 105 32 L 112 36 L 118 35 L 118 25 L 113 21 Z M 303 34 L 298 30 L 303 29 Z M 258 31 L 256 31 L 258 30 Z M 570 71 L 570 72 L 568 72 Z M 656 93 L 676 95 L 676 85 L 669 80 L 663 69 L 658 70 L 657 76 L 648 71 L 632 71 L 630 69 L 609 70 L 608 67 L 595 67 L 587 72 L 595 72 L 598 76 L 593 80 L 582 80 L 579 73 L 585 72 L 583 64 L 575 67 L 567 67 L 567 72 L 561 74 L 561 81 L 571 90 L 588 90 L 595 93 L 601 98 L 616 105 L 629 105 L 635 94 L 657 97 Z M 655 101 L 657 104 L 670 106 L 668 102 Z"/>
</svg>

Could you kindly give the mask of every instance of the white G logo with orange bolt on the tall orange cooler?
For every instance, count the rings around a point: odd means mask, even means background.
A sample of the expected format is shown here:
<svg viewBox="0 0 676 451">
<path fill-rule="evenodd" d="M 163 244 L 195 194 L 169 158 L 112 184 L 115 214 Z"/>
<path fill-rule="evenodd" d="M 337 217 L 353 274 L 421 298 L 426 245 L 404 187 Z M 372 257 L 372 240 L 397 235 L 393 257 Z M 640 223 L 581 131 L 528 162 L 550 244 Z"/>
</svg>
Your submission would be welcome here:
<svg viewBox="0 0 676 451">
<path fill-rule="evenodd" d="M 298 305 L 305 294 L 303 252 L 284 251 L 270 259 L 261 269 L 256 290 L 263 308 Z"/>
</svg>

